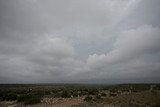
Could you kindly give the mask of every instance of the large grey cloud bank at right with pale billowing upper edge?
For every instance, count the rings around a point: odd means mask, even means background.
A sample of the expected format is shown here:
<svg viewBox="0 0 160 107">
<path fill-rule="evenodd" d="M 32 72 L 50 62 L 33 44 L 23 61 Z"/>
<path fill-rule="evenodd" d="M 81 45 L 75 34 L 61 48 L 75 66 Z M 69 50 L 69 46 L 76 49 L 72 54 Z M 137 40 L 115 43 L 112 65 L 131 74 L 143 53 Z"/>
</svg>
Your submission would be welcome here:
<svg viewBox="0 0 160 107">
<path fill-rule="evenodd" d="M 160 28 L 149 25 L 123 31 L 113 50 L 106 54 L 90 55 L 87 64 L 97 69 L 100 77 L 117 79 L 152 78 L 159 81 Z M 152 80 L 151 80 L 152 81 Z M 133 81 L 134 82 L 134 81 Z M 145 80 L 143 81 L 145 82 Z"/>
</svg>

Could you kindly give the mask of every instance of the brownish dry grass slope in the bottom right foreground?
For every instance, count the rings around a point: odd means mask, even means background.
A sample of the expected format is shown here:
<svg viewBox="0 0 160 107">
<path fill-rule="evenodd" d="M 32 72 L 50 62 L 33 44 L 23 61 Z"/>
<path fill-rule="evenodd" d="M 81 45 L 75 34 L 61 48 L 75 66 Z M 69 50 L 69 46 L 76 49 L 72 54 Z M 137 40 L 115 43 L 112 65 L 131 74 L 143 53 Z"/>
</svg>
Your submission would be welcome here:
<svg viewBox="0 0 160 107">
<path fill-rule="evenodd" d="M 101 103 L 82 103 L 75 107 L 160 107 L 160 91 L 143 91 L 106 97 Z"/>
</svg>

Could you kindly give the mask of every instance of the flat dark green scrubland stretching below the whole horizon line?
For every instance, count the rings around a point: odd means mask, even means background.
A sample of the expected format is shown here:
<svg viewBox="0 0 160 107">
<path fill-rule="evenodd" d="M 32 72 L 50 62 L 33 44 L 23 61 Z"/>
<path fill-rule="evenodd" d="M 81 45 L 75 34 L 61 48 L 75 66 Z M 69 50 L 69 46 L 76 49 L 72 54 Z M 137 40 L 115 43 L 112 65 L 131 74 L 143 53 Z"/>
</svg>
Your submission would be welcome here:
<svg viewBox="0 0 160 107">
<path fill-rule="evenodd" d="M 160 107 L 160 85 L 2 84 L 0 100 L 0 107 Z"/>
</svg>

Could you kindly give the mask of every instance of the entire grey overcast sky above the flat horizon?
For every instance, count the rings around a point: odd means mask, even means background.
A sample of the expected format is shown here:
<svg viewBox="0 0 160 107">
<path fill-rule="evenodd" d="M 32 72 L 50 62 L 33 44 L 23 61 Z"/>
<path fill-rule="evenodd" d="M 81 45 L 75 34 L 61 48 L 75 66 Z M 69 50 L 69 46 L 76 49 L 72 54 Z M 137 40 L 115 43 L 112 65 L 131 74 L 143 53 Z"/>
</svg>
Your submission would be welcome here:
<svg viewBox="0 0 160 107">
<path fill-rule="evenodd" d="M 160 0 L 0 0 L 0 83 L 160 83 Z"/>
</svg>

